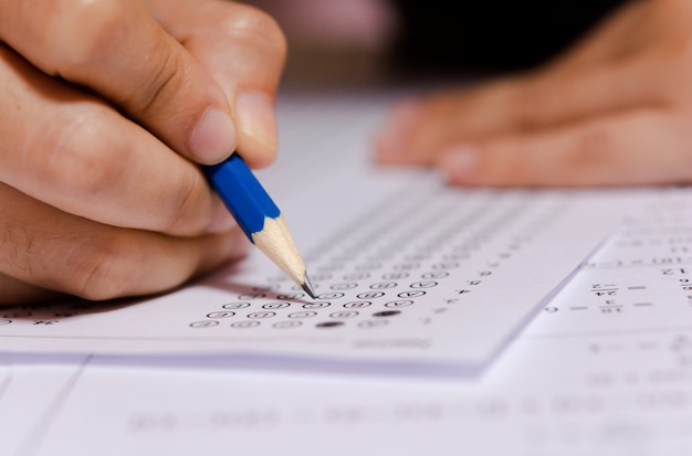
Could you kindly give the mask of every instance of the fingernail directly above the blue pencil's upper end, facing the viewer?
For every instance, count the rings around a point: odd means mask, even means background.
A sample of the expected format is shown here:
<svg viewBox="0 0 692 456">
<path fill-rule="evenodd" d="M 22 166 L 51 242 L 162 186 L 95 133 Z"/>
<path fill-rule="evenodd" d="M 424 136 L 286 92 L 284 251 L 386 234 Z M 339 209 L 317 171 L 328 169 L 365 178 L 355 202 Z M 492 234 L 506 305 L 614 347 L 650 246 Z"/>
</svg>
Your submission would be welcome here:
<svg viewBox="0 0 692 456">
<path fill-rule="evenodd" d="M 235 149 L 235 125 L 230 115 L 210 107 L 192 130 L 190 151 L 202 163 L 217 163 Z"/>
</svg>

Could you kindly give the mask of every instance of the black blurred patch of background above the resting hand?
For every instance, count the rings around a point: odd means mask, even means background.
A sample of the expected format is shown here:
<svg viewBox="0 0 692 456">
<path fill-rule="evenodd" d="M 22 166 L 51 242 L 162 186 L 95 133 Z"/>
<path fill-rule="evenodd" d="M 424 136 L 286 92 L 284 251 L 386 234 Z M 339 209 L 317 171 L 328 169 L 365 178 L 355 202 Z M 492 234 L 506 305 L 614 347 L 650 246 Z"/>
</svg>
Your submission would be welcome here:
<svg viewBox="0 0 692 456">
<path fill-rule="evenodd" d="M 623 0 L 389 0 L 394 61 L 413 68 L 516 70 L 555 55 Z"/>
</svg>

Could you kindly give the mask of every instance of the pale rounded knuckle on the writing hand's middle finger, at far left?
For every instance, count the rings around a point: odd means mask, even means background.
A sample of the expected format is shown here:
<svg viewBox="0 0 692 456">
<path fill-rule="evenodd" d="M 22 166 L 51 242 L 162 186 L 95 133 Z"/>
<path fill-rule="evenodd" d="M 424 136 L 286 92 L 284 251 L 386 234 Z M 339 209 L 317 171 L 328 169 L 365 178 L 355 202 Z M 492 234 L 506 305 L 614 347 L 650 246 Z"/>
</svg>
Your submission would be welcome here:
<svg viewBox="0 0 692 456">
<path fill-rule="evenodd" d="M 107 116 L 93 109 L 57 115 L 30 136 L 25 147 L 48 189 L 92 197 L 112 189 L 127 166 L 127 136 L 114 134 Z"/>
</svg>

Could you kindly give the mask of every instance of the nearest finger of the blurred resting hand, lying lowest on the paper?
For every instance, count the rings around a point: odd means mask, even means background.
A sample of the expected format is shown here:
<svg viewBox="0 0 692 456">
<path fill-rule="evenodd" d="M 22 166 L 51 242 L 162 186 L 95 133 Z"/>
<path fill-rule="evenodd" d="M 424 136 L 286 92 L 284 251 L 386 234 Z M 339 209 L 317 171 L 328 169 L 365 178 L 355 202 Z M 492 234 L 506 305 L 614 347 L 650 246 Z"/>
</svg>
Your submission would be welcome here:
<svg viewBox="0 0 692 456">
<path fill-rule="evenodd" d="M 459 185 L 680 183 L 692 178 L 689 123 L 663 110 L 622 113 L 458 145 L 439 157 L 438 166 Z"/>
</svg>

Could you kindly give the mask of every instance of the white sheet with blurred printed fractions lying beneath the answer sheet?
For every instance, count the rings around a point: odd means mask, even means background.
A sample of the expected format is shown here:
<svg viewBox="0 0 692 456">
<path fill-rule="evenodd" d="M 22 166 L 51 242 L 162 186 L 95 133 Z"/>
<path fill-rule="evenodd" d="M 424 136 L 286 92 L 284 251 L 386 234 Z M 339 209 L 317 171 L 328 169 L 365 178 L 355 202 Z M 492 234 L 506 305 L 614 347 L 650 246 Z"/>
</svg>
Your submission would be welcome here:
<svg viewBox="0 0 692 456">
<path fill-rule="evenodd" d="M 691 454 L 692 192 L 652 195 L 481 378 L 95 357 L 32 435 L 33 454 L 92 455 L 103 442 L 101 456 Z"/>
</svg>

